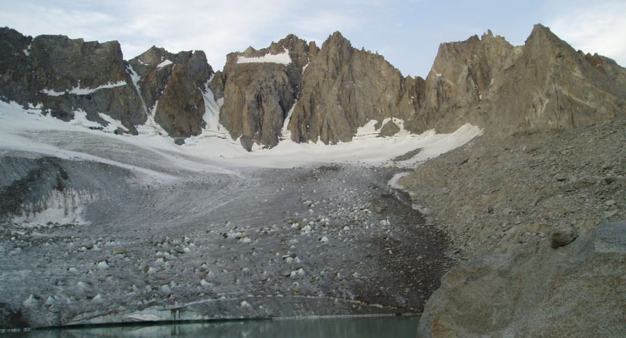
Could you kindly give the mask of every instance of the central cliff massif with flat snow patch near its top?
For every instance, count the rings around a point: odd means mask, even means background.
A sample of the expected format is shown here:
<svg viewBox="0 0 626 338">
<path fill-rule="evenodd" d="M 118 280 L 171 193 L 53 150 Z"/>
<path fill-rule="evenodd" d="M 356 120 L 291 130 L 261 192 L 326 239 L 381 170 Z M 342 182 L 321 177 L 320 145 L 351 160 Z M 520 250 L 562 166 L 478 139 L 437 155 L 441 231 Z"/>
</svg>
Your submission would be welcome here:
<svg viewBox="0 0 626 338">
<path fill-rule="evenodd" d="M 285 53 L 280 62 L 268 61 Z M 250 150 L 254 143 L 276 146 L 283 132 L 297 142 L 351 141 L 368 121 L 389 117 L 423 130 L 415 123 L 423 84 L 336 32 L 321 49 L 290 35 L 265 49 L 229 54 L 212 88 L 224 98 L 220 122 Z"/>
</svg>

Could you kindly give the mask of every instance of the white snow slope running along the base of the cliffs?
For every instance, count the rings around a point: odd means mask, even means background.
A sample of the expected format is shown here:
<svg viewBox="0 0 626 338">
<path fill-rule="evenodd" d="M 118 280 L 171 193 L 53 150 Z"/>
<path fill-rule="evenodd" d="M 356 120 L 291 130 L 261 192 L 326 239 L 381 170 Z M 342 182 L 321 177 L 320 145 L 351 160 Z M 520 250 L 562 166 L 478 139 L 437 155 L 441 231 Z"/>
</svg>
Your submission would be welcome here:
<svg viewBox="0 0 626 338">
<path fill-rule="evenodd" d="M 435 158 L 441 153 L 451 151 L 462 146 L 474 137 L 481 135 L 480 128 L 466 124 L 451 134 L 437 134 L 435 130 L 428 130 L 421 135 L 414 135 L 403 128 L 403 121 L 393 118 L 393 121 L 401 128 L 393 137 L 378 137 L 379 130 L 374 128 L 377 121 L 369 121 L 359 128 L 357 135 L 351 142 L 335 145 L 325 145 L 321 141 L 317 143 L 297 144 L 290 139 L 281 141 L 272 149 L 263 149 L 255 146 L 253 151 L 248 152 L 242 148 L 238 140 L 233 140 L 223 127 L 218 124 L 216 110 L 219 109 L 212 95 L 207 99 L 208 129 L 201 135 L 190 137 L 183 146 L 174 144 L 173 139 L 159 132 L 142 132 L 138 136 L 114 135 L 114 128 L 90 130 L 91 121 L 86 120 L 84 113 L 77 112 L 77 119 L 70 123 L 56 118 L 43 116 L 36 108 L 23 109 L 15 102 L 0 102 L 0 153 L 6 151 L 29 151 L 45 155 L 54 155 L 60 158 L 83 158 L 107 162 L 122 167 L 132 167 L 146 172 L 157 174 L 150 167 L 138 168 L 136 164 L 115 162 L 107 158 L 100 158 L 76 150 L 64 149 L 58 142 L 45 141 L 45 138 L 29 137 L 31 134 L 54 135 L 55 132 L 76 132 L 77 134 L 102 139 L 102 144 L 119 144 L 123 142 L 128 146 L 139 147 L 149 151 L 152 155 L 159 156 L 165 162 L 171 162 L 173 167 L 181 167 L 186 170 L 196 171 L 219 171 L 234 174 L 233 167 L 270 167 L 288 168 L 305 167 L 321 163 L 353 163 L 367 166 L 384 166 L 391 164 L 391 159 L 403 155 L 416 148 L 422 150 L 413 158 L 395 162 L 393 165 L 400 167 L 414 167 L 419 162 Z M 219 112 L 219 110 L 217 110 Z M 219 113 L 218 113 L 219 114 Z M 108 117 L 108 116 L 107 116 Z M 121 125 L 117 121 L 108 118 L 111 125 Z M 386 118 L 384 122 L 389 121 Z M 384 123 L 383 123 L 384 125 Z M 142 128 L 155 128 L 150 125 Z M 48 137 L 53 139 L 54 137 Z M 229 169 L 230 168 L 230 169 Z M 159 173 L 162 174 L 162 173 Z"/>
</svg>

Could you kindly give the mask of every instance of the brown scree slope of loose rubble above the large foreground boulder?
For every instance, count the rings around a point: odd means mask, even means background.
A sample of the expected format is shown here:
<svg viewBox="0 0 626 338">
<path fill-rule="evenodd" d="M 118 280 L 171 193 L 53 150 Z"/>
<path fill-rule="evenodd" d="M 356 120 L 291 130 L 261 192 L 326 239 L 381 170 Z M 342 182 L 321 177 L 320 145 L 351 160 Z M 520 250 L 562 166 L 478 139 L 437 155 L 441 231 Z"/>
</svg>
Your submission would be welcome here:
<svg viewBox="0 0 626 338">
<path fill-rule="evenodd" d="M 484 135 L 400 180 L 457 256 L 512 250 L 573 226 L 626 219 L 626 119 L 553 135 Z"/>
</svg>

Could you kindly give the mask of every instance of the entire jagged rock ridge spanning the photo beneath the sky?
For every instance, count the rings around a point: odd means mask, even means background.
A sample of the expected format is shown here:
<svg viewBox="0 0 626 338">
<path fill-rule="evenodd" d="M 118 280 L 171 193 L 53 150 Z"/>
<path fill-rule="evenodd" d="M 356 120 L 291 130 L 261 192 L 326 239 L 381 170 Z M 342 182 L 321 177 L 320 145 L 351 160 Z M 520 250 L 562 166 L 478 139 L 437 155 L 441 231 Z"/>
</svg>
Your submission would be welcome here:
<svg viewBox="0 0 626 338">
<path fill-rule="evenodd" d="M 8 28 L 0 30 L 0 44 L 3 100 L 64 120 L 82 111 L 108 125 L 103 115 L 110 116 L 124 126 L 118 132 L 131 134 L 153 118 L 183 142 L 206 127 L 212 91 L 222 104 L 219 123 L 247 150 L 286 137 L 350 141 L 368 121 L 390 117 L 416 133 L 468 122 L 502 136 L 565 130 L 624 116 L 626 104 L 624 68 L 574 51 L 541 25 L 523 46 L 491 31 L 441 44 L 426 79 L 403 77 L 338 32 L 321 48 L 289 35 L 264 49 L 230 53 L 216 73 L 201 51 L 151 47 L 125 61 L 116 42 L 30 38 Z"/>
</svg>

